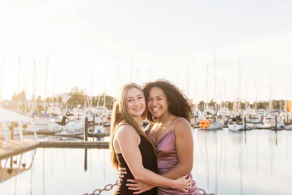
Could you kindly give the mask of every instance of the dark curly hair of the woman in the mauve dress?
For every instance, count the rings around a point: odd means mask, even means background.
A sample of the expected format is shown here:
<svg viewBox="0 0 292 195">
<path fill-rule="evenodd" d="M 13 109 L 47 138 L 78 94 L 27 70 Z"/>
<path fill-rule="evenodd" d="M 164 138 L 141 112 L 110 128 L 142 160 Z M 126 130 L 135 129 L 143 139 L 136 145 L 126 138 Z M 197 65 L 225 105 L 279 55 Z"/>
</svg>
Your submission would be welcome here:
<svg viewBox="0 0 292 195">
<path fill-rule="evenodd" d="M 193 109 L 189 102 L 189 99 L 184 95 L 183 91 L 175 86 L 172 82 L 165 79 L 158 79 L 154 82 L 147 82 L 142 85 L 143 92 L 145 94 L 146 101 L 149 97 L 150 89 L 153 87 L 159 87 L 165 93 L 169 102 L 169 111 L 174 116 L 183 117 L 191 123 L 191 117 L 193 115 Z M 147 120 L 150 122 L 156 120 L 152 114 L 147 111 Z"/>
</svg>

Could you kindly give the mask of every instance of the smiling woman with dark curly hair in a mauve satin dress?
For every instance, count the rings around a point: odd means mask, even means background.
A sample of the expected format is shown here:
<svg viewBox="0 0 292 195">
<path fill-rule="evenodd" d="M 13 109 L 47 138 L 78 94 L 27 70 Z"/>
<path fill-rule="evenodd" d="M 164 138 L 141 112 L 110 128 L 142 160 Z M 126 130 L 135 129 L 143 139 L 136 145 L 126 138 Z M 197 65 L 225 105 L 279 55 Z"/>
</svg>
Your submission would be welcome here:
<svg viewBox="0 0 292 195">
<path fill-rule="evenodd" d="M 190 120 L 192 107 L 183 92 L 167 80 L 156 80 L 143 85 L 147 101 L 147 119 L 150 124 L 146 134 L 157 149 L 157 173 L 171 179 L 188 175 L 192 178 L 193 138 Z M 119 174 L 124 174 L 119 169 Z M 123 176 L 119 176 L 123 178 Z M 142 193 L 156 187 L 139 180 L 129 180 L 129 189 Z M 135 193 L 135 194 L 138 194 Z M 198 194 L 195 181 L 188 192 L 157 186 L 158 195 L 168 194 Z"/>
</svg>

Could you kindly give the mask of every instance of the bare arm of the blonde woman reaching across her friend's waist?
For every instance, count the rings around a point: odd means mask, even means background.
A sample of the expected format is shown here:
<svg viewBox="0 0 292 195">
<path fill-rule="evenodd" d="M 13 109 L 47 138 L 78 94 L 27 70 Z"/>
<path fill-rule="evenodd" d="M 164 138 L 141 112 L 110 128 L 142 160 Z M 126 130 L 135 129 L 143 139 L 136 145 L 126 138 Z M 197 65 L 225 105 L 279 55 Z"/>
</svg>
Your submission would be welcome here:
<svg viewBox="0 0 292 195">
<path fill-rule="evenodd" d="M 168 186 L 171 188 L 185 189 L 188 185 L 187 180 L 183 181 L 182 179 L 169 179 L 143 167 L 142 156 L 138 147 L 138 135 L 135 129 L 131 126 L 121 126 L 115 134 L 115 139 L 135 179 L 148 184 L 157 186 Z M 114 147 L 115 145 L 116 142 L 114 142 Z"/>
</svg>

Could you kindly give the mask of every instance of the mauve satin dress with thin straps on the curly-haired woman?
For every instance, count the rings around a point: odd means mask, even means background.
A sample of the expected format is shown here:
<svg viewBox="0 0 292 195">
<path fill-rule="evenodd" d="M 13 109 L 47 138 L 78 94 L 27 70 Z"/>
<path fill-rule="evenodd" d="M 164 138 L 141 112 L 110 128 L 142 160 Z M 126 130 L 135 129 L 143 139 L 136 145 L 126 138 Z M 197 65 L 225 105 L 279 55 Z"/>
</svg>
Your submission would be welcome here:
<svg viewBox="0 0 292 195">
<path fill-rule="evenodd" d="M 184 119 L 179 118 L 177 120 Z M 158 142 L 155 144 L 157 149 L 157 174 L 163 174 L 173 166 L 178 164 L 178 158 L 176 153 L 176 145 L 175 145 L 175 134 L 174 134 L 174 125 L 176 121 L 174 121 L 172 131 L 166 133 Z M 184 119 L 186 120 L 186 119 Z M 147 131 L 148 136 L 150 137 L 151 141 L 153 142 L 149 130 Z M 154 143 L 154 142 L 153 142 Z M 198 187 L 196 182 L 193 180 L 191 172 L 188 173 L 190 178 L 192 179 L 192 188 L 188 192 L 183 192 L 178 189 L 169 188 L 169 187 L 157 187 L 157 195 L 197 195 L 198 194 Z"/>
</svg>

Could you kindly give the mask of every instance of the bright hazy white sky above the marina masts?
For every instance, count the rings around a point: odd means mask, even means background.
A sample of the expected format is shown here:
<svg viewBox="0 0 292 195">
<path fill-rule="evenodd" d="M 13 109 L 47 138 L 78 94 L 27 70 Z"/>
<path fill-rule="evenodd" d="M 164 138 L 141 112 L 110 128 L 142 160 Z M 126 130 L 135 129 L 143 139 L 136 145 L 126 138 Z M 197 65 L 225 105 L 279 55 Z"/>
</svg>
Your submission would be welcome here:
<svg viewBox="0 0 292 195">
<path fill-rule="evenodd" d="M 243 100 L 256 98 L 255 75 L 258 100 L 269 99 L 269 71 L 273 99 L 292 98 L 290 0 L 2 0 L 0 18 L 2 100 L 18 91 L 19 55 L 20 90 L 31 98 L 35 59 L 36 94 L 44 97 L 47 54 L 46 96 L 53 94 L 54 74 L 54 94 L 66 92 L 68 78 L 68 91 L 86 85 L 91 95 L 93 75 L 93 95 L 106 86 L 116 96 L 131 80 L 132 63 L 133 82 L 166 78 L 184 91 L 189 69 L 194 101 L 206 100 L 208 65 L 208 99 L 215 99 L 214 49 L 217 101 L 238 96 L 239 55 Z"/>
</svg>

